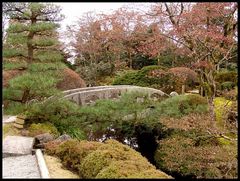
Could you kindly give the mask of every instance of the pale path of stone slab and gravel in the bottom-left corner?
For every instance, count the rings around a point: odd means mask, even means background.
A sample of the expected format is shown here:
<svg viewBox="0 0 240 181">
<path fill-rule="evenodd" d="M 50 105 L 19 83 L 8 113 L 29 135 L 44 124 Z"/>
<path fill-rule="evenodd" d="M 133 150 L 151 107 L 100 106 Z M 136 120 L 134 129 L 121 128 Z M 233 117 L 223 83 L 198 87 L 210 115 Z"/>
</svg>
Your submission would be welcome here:
<svg viewBox="0 0 240 181">
<path fill-rule="evenodd" d="M 3 140 L 3 178 L 41 178 L 33 144 L 32 137 L 7 136 Z"/>
</svg>

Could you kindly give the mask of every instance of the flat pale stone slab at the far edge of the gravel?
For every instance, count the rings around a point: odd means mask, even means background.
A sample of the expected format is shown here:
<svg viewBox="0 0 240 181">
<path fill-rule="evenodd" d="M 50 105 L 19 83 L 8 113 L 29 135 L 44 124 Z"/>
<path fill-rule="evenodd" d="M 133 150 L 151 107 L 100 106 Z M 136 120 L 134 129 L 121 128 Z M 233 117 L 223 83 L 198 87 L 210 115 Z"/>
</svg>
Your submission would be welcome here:
<svg viewBox="0 0 240 181">
<path fill-rule="evenodd" d="M 3 140 L 3 157 L 32 154 L 34 138 L 7 136 Z"/>
</svg>

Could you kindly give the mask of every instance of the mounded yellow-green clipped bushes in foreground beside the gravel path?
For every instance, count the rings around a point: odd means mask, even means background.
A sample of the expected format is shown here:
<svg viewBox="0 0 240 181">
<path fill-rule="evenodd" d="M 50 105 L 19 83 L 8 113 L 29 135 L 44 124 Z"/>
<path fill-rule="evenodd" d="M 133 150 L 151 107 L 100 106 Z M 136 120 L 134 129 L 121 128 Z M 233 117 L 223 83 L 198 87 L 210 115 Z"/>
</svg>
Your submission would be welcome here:
<svg viewBox="0 0 240 181">
<path fill-rule="evenodd" d="M 59 145 L 57 155 L 82 178 L 144 178 L 147 173 L 151 173 L 150 178 L 171 178 L 156 170 L 140 153 L 115 140 L 69 140 Z"/>
</svg>

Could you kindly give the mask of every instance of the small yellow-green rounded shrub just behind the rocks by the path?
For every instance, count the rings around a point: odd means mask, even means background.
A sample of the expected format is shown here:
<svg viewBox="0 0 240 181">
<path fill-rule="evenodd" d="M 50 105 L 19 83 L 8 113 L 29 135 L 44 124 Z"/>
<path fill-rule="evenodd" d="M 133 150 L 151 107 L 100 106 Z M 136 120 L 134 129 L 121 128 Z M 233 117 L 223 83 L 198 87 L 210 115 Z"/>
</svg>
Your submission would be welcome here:
<svg viewBox="0 0 240 181">
<path fill-rule="evenodd" d="M 37 124 L 33 123 L 30 125 L 28 130 L 29 130 L 29 136 L 33 136 L 33 137 L 43 133 L 50 133 L 55 137 L 59 136 L 59 132 L 57 128 L 49 122 L 37 123 Z"/>
</svg>

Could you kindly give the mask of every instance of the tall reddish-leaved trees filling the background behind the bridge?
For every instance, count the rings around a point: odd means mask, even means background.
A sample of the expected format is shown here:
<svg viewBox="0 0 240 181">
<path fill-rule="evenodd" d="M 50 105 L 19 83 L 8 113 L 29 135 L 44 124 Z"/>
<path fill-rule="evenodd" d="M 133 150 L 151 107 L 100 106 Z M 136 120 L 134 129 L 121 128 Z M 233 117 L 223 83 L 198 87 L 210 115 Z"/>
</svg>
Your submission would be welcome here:
<svg viewBox="0 0 240 181">
<path fill-rule="evenodd" d="M 237 8 L 236 3 L 155 3 L 144 13 L 121 8 L 86 16 L 76 30 L 75 51 L 88 65 L 109 62 L 114 68 L 121 64 L 139 69 L 136 64 L 141 63 L 195 69 L 213 113 L 215 75 L 236 60 Z"/>
</svg>

